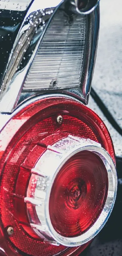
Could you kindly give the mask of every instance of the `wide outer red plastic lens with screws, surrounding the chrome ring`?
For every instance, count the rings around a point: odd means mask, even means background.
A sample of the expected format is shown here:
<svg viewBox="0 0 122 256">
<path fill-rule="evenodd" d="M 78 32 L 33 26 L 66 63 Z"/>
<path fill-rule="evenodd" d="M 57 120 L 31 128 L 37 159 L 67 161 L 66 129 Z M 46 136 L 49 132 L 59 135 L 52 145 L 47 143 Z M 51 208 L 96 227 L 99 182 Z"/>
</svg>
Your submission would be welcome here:
<svg viewBox="0 0 122 256">
<path fill-rule="evenodd" d="M 60 125 L 57 123 L 59 114 L 63 116 Z M 71 99 L 52 97 L 31 103 L 15 114 L 1 132 L 0 242 L 9 256 L 16 255 L 14 248 L 17 248 L 20 254 L 24 252 L 32 256 L 73 254 L 73 248 L 56 247 L 40 240 L 30 227 L 24 203 L 31 168 L 34 168 L 45 152 L 46 146 L 67 137 L 68 134 L 100 142 L 115 162 L 113 144 L 102 120 L 87 106 Z M 94 177 L 91 182 L 94 183 Z M 7 235 L 8 226 L 14 228 L 12 236 Z M 70 233 L 70 230 L 68 232 Z M 2 239 L 3 233 L 6 240 Z M 86 246 L 87 244 L 77 249 L 75 247 L 74 251 L 79 250 L 80 254 Z M 13 251 L 10 248 L 13 248 Z"/>
</svg>

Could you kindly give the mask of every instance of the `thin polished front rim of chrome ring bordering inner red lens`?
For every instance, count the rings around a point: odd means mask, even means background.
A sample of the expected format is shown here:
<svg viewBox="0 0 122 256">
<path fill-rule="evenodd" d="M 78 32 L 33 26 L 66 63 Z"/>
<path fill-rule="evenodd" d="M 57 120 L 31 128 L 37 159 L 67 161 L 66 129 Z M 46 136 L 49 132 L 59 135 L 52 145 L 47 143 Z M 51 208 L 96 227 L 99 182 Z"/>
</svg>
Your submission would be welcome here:
<svg viewBox="0 0 122 256">
<path fill-rule="evenodd" d="M 89 142 L 90 143 L 90 142 Z M 59 235 L 53 228 L 50 220 L 49 215 L 49 195 L 51 193 L 51 187 L 49 187 L 48 195 L 46 197 L 46 209 L 45 209 L 45 215 L 46 215 L 46 221 L 48 223 L 48 229 L 49 232 L 52 234 L 52 237 L 58 242 L 61 243 L 64 246 L 78 246 L 84 243 L 87 243 L 91 239 L 96 236 L 101 229 L 104 227 L 105 223 L 107 222 L 111 211 L 114 207 L 115 199 L 116 199 L 116 193 L 117 193 L 117 175 L 116 175 L 116 169 L 113 163 L 113 160 L 111 159 L 110 155 L 107 153 L 106 150 L 103 148 L 99 148 L 98 146 L 94 146 L 94 143 L 92 146 L 83 146 L 80 149 L 74 149 L 75 153 L 79 152 L 80 150 L 90 150 L 93 153 L 96 153 L 104 162 L 107 174 L 108 174 L 108 195 L 107 200 L 105 203 L 105 206 L 103 208 L 103 211 L 97 221 L 94 223 L 94 225 L 83 235 L 69 238 L 69 237 L 63 237 Z M 71 155 L 70 155 L 71 156 Z M 66 160 L 66 158 L 65 158 Z M 50 162 L 50 161 L 49 161 Z M 61 165 L 60 165 L 61 168 Z M 58 172 L 59 169 L 56 171 Z M 54 177 L 53 177 L 54 178 Z"/>
</svg>

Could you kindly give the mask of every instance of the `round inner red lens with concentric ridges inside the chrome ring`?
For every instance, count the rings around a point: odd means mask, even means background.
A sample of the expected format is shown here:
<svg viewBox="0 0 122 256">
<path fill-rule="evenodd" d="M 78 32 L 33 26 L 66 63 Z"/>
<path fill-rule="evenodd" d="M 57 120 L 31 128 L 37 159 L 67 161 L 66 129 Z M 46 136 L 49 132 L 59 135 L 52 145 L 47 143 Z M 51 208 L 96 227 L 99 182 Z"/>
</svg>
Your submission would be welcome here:
<svg viewBox="0 0 122 256">
<path fill-rule="evenodd" d="M 75 154 L 61 168 L 51 189 L 49 212 L 54 229 L 67 237 L 86 232 L 101 214 L 107 191 L 102 160 L 89 151 Z"/>
</svg>

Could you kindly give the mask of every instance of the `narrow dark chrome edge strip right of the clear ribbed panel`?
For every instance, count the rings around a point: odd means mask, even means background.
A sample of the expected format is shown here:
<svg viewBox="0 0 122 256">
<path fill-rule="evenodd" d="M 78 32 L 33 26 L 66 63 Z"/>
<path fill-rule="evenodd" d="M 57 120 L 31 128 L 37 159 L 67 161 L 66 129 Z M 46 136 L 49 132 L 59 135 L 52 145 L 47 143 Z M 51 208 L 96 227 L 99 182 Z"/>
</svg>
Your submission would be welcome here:
<svg viewBox="0 0 122 256">
<path fill-rule="evenodd" d="M 81 88 L 71 88 L 63 90 L 75 98 L 81 99 L 85 104 L 88 104 L 91 82 L 94 74 L 94 66 L 96 62 L 99 25 L 100 25 L 100 8 L 97 8 L 88 15 L 87 27 L 87 45 L 84 54 L 83 74 L 81 78 Z"/>
</svg>

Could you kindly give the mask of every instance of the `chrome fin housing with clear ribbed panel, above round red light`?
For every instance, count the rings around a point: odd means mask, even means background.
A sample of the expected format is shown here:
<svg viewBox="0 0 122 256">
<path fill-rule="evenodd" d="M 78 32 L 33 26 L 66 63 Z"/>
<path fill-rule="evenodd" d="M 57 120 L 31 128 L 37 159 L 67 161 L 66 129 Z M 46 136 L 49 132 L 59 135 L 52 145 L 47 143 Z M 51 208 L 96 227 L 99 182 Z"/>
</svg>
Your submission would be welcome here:
<svg viewBox="0 0 122 256">
<path fill-rule="evenodd" d="M 12 113 L 20 102 L 46 90 L 60 90 L 88 103 L 99 33 L 99 5 L 88 15 L 74 12 L 70 6 L 68 1 L 49 4 L 46 0 L 39 5 L 34 0 L 28 7 L 2 72 L 2 113 Z"/>
</svg>

